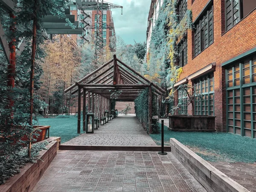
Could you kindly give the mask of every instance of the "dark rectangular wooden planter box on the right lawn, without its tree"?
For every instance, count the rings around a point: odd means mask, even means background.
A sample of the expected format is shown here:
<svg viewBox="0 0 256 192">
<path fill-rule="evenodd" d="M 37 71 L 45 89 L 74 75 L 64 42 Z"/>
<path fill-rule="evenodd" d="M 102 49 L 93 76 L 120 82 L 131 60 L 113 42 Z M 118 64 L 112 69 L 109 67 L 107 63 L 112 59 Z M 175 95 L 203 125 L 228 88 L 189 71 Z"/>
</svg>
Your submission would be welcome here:
<svg viewBox="0 0 256 192">
<path fill-rule="evenodd" d="M 215 131 L 215 116 L 169 115 L 172 131 Z"/>
</svg>

